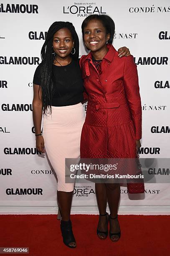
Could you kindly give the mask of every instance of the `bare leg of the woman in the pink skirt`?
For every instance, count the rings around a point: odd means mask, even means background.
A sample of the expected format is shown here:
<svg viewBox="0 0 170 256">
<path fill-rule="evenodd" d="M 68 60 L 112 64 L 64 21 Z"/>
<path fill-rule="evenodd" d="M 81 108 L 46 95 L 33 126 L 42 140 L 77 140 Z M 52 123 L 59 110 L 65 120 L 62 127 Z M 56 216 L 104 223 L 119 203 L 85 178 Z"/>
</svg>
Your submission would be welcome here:
<svg viewBox="0 0 170 256">
<path fill-rule="evenodd" d="M 61 216 L 63 221 L 70 220 L 71 202 L 73 197 L 73 191 L 64 192 L 57 190 L 57 198 L 61 210 Z M 75 242 L 69 243 L 70 246 L 76 246 Z"/>
</svg>

